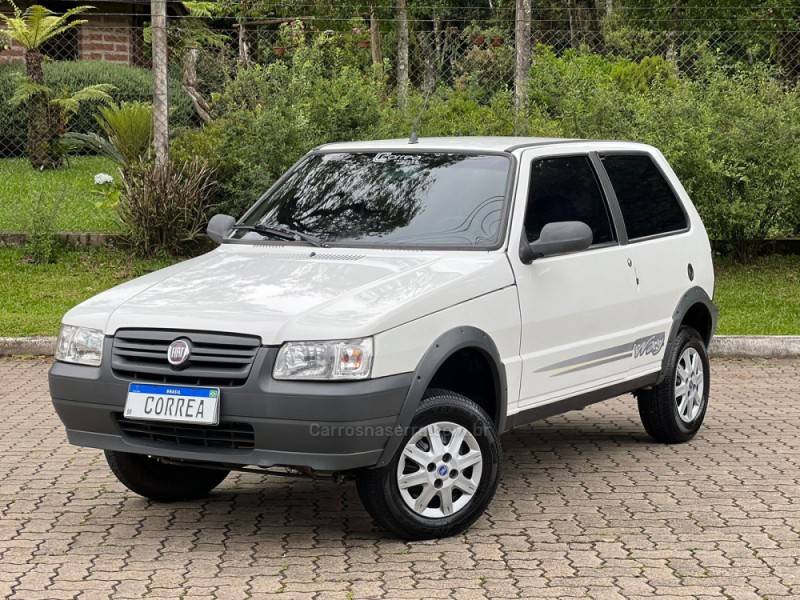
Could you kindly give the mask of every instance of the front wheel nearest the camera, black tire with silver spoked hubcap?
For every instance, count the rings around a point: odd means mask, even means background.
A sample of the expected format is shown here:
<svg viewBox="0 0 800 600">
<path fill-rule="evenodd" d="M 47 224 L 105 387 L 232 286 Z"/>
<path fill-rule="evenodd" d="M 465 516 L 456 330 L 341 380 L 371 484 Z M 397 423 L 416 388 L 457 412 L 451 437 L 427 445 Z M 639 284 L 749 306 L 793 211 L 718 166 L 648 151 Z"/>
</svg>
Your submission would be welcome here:
<svg viewBox="0 0 800 600">
<path fill-rule="evenodd" d="M 431 444 L 437 434 L 441 446 Z M 480 406 L 454 392 L 429 390 L 389 464 L 358 473 L 358 495 L 378 525 L 400 538 L 448 537 L 483 514 L 497 490 L 501 460 L 499 435 Z M 417 481 L 423 483 L 411 485 Z"/>
</svg>

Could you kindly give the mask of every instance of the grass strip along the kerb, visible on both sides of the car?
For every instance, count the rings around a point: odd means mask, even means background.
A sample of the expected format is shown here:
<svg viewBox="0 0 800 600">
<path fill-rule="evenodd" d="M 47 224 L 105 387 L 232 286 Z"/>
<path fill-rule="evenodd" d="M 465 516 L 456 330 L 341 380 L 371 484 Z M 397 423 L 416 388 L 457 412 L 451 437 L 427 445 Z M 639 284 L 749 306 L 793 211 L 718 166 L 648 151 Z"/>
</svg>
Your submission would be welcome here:
<svg viewBox="0 0 800 600">
<path fill-rule="evenodd" d="M 169 264 L 105 249 L 63 251 L 52 265 L 31 265 L 24 256 L 21 249 L 0 248 L 0 337 L 55 335 L 72 306 Z M 716 264 L 718 333 L 800 335 L 800 256 Z"/>
</svg>

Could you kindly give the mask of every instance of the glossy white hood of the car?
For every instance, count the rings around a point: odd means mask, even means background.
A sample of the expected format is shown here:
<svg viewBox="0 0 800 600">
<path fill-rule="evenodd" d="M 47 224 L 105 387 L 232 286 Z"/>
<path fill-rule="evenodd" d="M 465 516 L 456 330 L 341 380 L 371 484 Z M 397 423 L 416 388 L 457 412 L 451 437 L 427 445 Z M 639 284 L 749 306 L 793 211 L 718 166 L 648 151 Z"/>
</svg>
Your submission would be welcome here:
<svg viewBox="0 0 800 600">
<path fill-rule="evenodd" d="M 287 340 L 373 335 L 512 285 L 502 252 L 225 244 L 103 292 L 64 317 L 102 329 Z"/>
</svg>

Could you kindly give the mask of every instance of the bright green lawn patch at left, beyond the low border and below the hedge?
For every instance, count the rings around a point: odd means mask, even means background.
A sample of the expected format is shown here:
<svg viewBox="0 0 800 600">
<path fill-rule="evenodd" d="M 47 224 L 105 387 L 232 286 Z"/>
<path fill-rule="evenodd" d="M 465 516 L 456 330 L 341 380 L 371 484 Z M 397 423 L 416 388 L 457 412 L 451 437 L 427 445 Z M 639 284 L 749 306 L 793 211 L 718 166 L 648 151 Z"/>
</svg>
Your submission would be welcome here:
<svg viewBox="0 0 800 600">
<path fill-rule="evenodd" d="M 28 230 L 31 204 L 41 193 L 57 201 L 59 231 L 117 231 L 113 209 L 96 206 L 97 173 L 117 177 L 114 163 L 97 156 L 71 157 L 64 167 L 49 171 L 35 170 L 24 158 L 0 159 L 0 231 Z"/>
</svg>

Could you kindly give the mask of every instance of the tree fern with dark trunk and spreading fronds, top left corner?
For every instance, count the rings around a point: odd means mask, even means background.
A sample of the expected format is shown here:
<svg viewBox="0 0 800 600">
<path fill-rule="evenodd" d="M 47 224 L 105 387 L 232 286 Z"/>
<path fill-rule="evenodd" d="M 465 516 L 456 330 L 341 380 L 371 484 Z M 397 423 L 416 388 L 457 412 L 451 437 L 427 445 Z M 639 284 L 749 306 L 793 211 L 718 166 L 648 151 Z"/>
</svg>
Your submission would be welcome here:
<svg viewBox="0 0 800 600">
<path fill-rule="evenodd" d="M 60 164 L 53 149 L 51 119 L 48 110 L 52 93 L 44 85 L 44 71 L 41 53 L 42 44 L 58 37 L 68 29 L 86 23 L 85 19 L 74 19 L 75 15 L 92 9 L 91 6 L 77 6 L 63 15 L 34 4 L 22 12 L 14 2 L 13 16 L 0 14 L 0 21 L 6 26 L 5 35 L 25 50 L 25 73 L 29 82 L 25 101 L 28 105 L 28 160 L 36 169 L 56 167 Z"/>
</svg>

